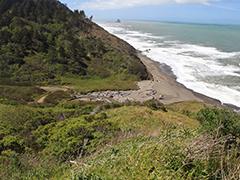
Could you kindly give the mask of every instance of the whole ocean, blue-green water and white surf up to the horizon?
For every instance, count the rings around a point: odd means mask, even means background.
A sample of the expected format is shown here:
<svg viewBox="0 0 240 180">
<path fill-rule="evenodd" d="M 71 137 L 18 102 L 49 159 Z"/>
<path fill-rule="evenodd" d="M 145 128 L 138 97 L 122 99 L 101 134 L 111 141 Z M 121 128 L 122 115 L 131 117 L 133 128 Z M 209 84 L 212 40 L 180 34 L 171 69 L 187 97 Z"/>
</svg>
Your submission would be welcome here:
<svg viewBox="0 0 240 180">
<path fill-rule="evenodd" d="M 170 66 L 187 88 L 240 107 L 240 26 L 150 21 L 98 24 Z"/>
</svg>

